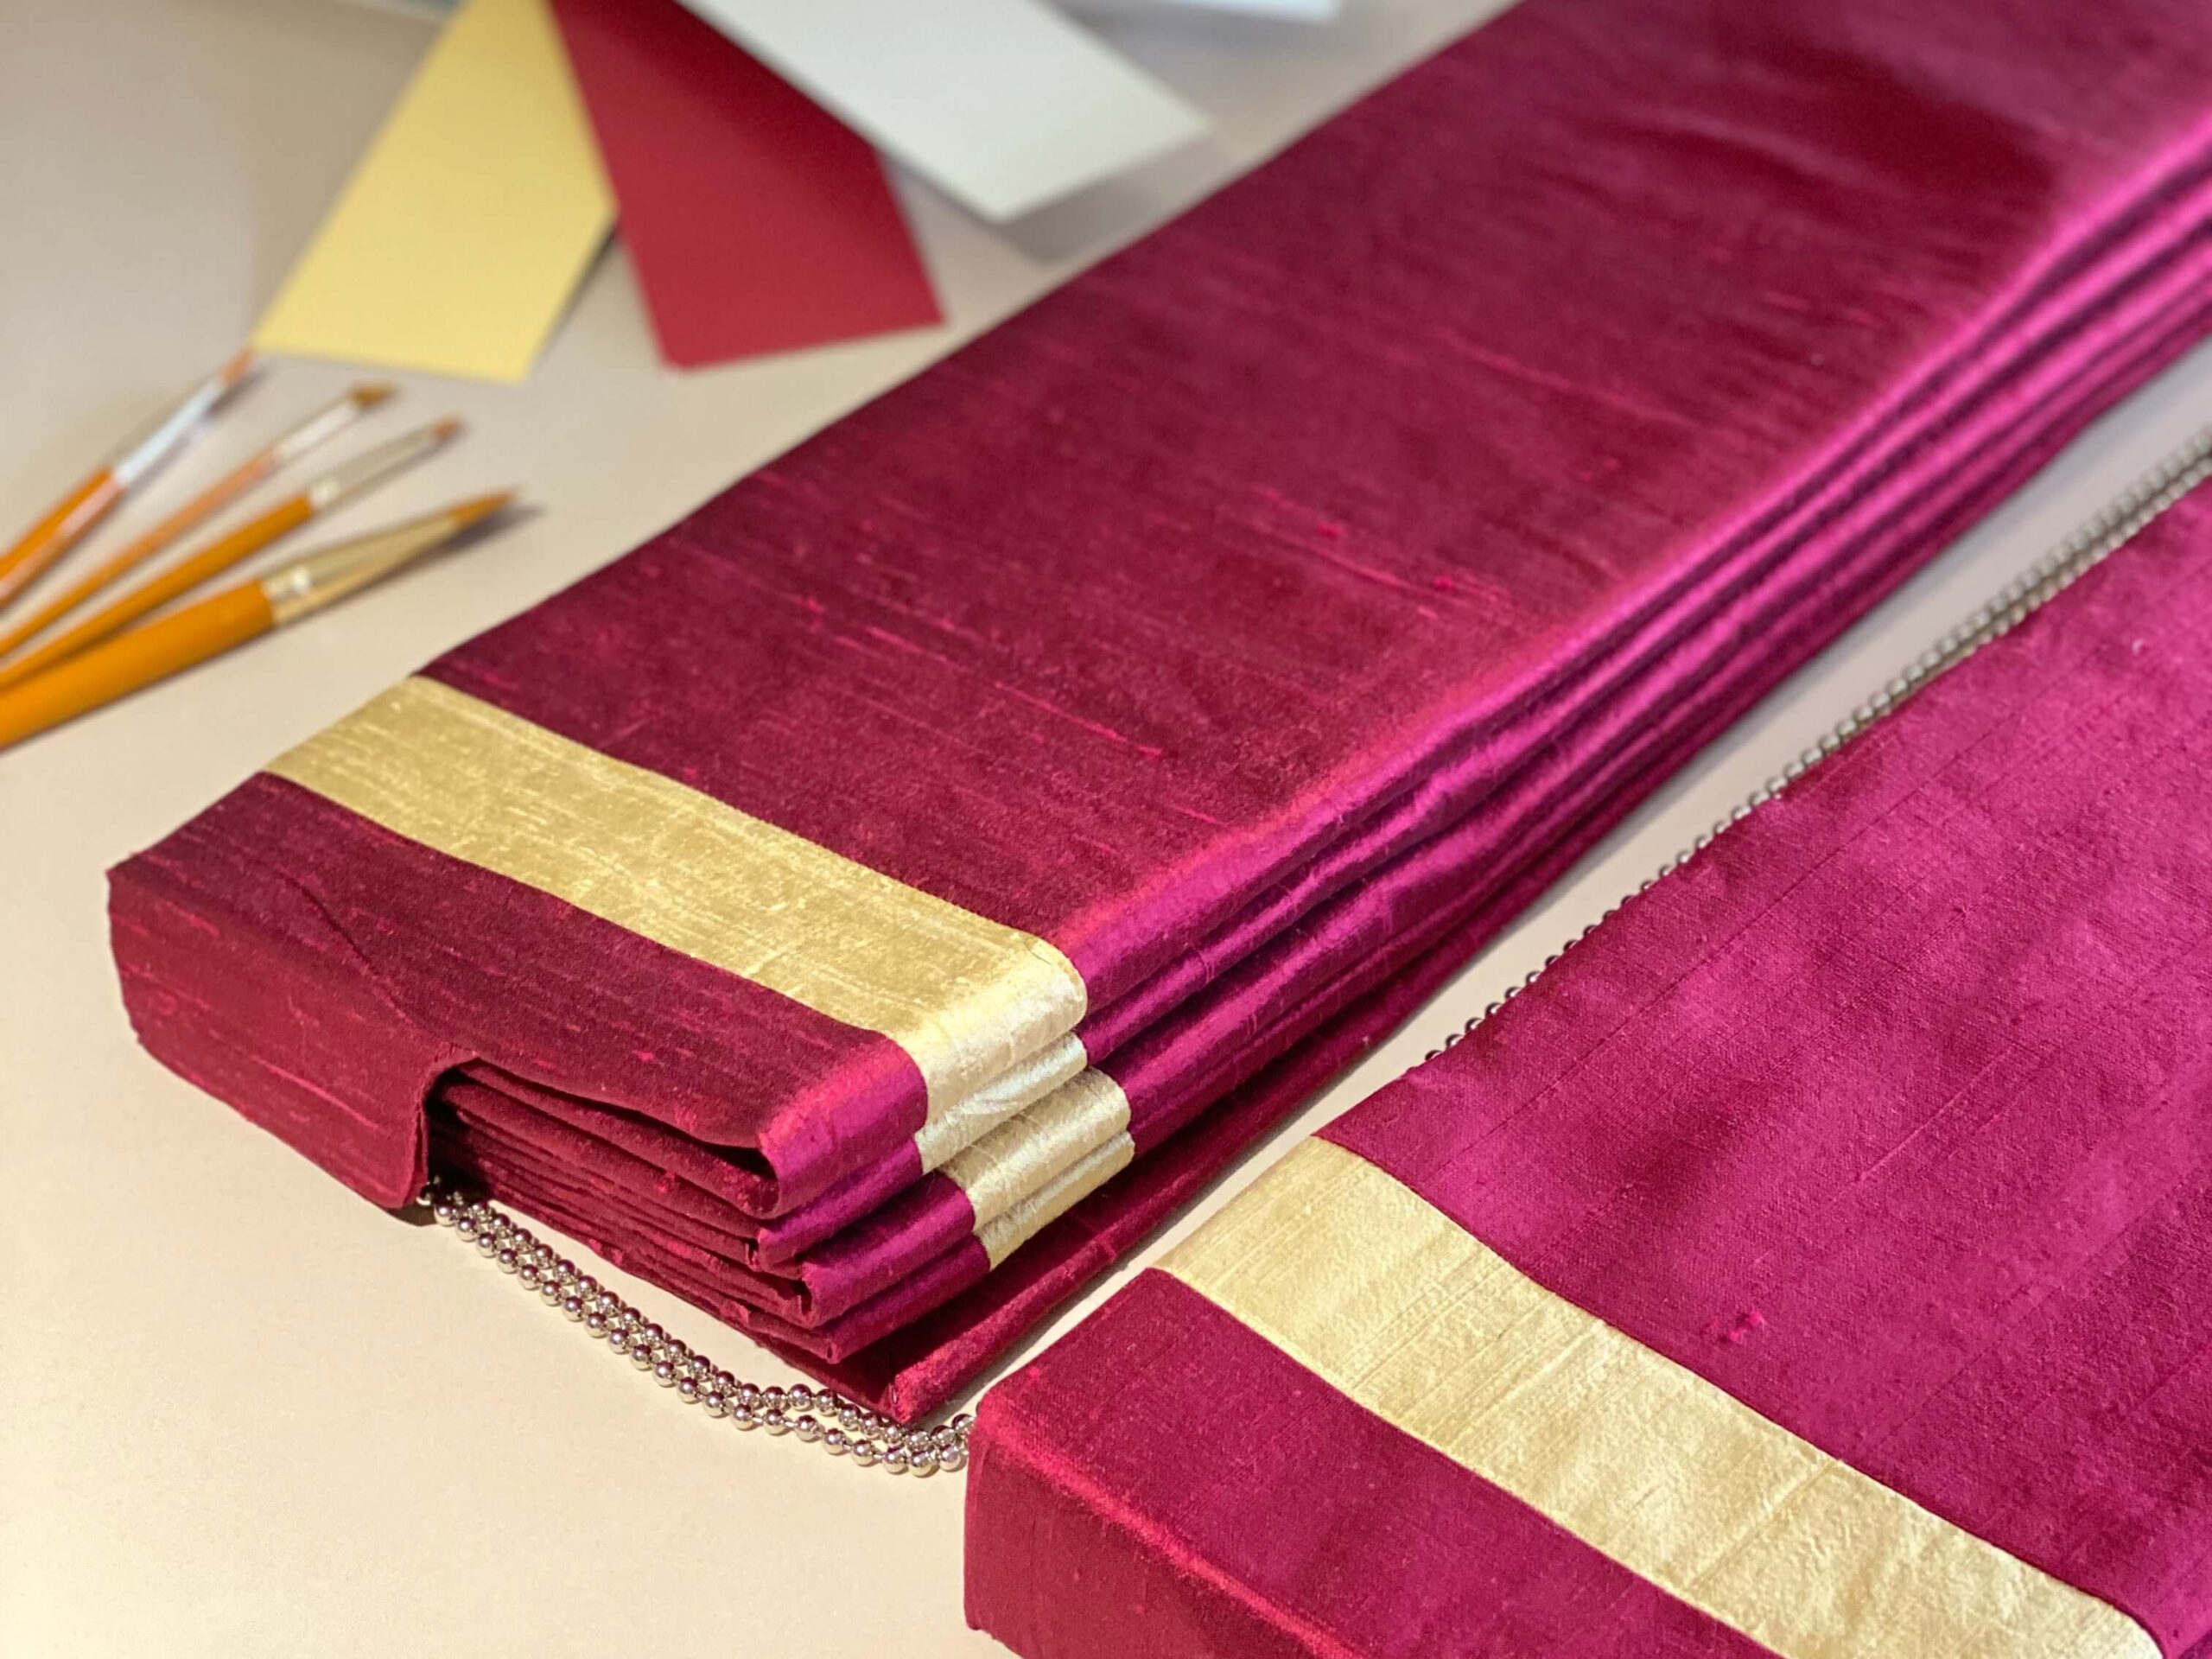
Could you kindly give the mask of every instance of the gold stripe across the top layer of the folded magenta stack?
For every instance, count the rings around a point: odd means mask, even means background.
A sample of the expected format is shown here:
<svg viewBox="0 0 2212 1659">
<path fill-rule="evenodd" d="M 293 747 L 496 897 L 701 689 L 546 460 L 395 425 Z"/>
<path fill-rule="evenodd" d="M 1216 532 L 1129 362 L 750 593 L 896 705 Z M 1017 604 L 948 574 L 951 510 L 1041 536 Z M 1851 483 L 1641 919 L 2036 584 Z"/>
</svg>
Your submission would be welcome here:
<svg viewBox="0 0 2212 1659">
<path fill-rule="evenodd" d="M 431 679 L 270 768 L 394 834 L 878 1031 L 931 1117 L 1064 1037 L 1084 982 L 1048 942 Z"/>
</svg>

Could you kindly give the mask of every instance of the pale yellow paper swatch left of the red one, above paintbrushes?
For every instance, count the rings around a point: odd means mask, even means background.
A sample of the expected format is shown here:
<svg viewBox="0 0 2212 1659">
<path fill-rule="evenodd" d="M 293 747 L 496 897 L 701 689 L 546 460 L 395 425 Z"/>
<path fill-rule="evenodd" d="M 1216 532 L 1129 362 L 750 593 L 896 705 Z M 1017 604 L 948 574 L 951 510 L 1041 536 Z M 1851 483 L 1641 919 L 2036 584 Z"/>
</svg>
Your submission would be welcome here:
<svg viewBox="0 0 2212 1659">
<path fill-rule="evenodd" d="M 467 0 L 254 345 L 520 380 L 613 217 L 546 0 Z"/>
</svg>

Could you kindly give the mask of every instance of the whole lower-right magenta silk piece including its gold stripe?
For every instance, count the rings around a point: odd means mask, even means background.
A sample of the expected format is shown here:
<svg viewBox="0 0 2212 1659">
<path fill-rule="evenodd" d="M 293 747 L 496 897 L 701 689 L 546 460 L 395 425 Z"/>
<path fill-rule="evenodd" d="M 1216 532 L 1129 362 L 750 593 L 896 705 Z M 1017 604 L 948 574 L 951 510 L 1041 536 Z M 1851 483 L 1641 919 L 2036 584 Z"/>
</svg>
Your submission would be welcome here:
<svg viewBox="0 0 2212 1659">
<path fill-rule="evenodd" d="M 984 1396 L 1077 1655 L 2212 1644 L 2212 489 Z"/>
</svg>

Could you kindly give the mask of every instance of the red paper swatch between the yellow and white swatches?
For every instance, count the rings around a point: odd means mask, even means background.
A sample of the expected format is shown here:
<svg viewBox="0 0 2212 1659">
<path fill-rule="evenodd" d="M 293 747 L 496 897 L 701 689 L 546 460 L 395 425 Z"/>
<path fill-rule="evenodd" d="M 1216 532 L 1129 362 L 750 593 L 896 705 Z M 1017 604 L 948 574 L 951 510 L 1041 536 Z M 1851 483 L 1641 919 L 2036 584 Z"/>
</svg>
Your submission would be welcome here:
<svg viewBox="0 0 2212 1659">
<path fill-rule="evenodd" d="M 661 354 L 938 321 L 874 148 L 677 0 L 553 0 Z"/>
</svg>

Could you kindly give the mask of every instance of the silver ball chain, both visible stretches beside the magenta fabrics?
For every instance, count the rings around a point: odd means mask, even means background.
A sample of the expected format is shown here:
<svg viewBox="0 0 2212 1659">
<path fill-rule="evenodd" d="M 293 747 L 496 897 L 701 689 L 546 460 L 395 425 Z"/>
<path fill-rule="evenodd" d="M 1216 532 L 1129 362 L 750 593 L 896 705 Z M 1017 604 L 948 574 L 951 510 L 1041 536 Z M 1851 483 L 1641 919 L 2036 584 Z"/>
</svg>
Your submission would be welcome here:
<svg viewBox="0 0 2212 1659">
<path fill-rule="evenodd" d="M 1650 880 L 1637 887 L 1637 894 L 1648 891 L 1655 883 L 1690 863 L 1730 825 L 1741 823 L 1763 803 L 1787 790 L 1867 726 L 1889 714 L 1898 703 L 1936 679 L 1936 675 L 1971 657 L 1991 639 L 2011 633 L 2090 568 L 2124 549 L 2159 513 L 2208 478 L 2212 478 L 2212 429 L 2197 434 L 2181 451 L 2121 493 L 2068 542 L 2028 566 L 1995 599 L 1929 646 L 1902 675 L 1845 714 L 1818 743 L 1752 790 L 1734 812 L 1661 865 Z M 1444 1037 L 1442 1046 L 1431 1048 L 1427 1057 L 1436 1060 L 1444 1048 L 1473 1035 L 1484 1020 L 1535 984 L 1544 969 L 1586 940 L 1626 902 L 1628 898 L 1621 898 L 1575 938 L 1546 956 L 1542 967 L 1533 969 L 1520 984 L 1506 989 L 1498 1002 L 1491 1002 L 1482 1013 Z M 852 1458 L 860 1467 L 883 1469 L 894 1475 L 933 1475 L 938 1469 L 949 1473 L 967 1469 L 969 1427 L 975 1420 L 964 1411 L 936 1429 L 905 1429 L 880 1411 L 869 1411 L 827 1389 L 810 1389 L 803 1383 L 787 1389 L 763 1389 L 752 1383 L 739 1383 L 717 1367 L 714 1360 L 692 1354 L 615 1292 L 577 1270 L 573 1261 L 564 1261 L 560 1252 L 529 1228 L 500 1214 L 482 1199 L 467 1197 L 442 1181 L 431 1181 L 422 1190 L 422 1203 L 429 1206 L 440 1225 L 476 1243 L 502 1272 L 513 1274 L 524 1290 L 535 1290 L 573 1323 L 604 1338 L 611 1354 L 626 1356 L 639 1371 L 648 1371 L 655 1383 L 675 1391 L 679 1400 L 701 1407 L 710 1418 L 726 1418 L 748 1431 L 768 1429 L 772 1436 L 796 1436 L 834 1458 Z"/>
</svg>

